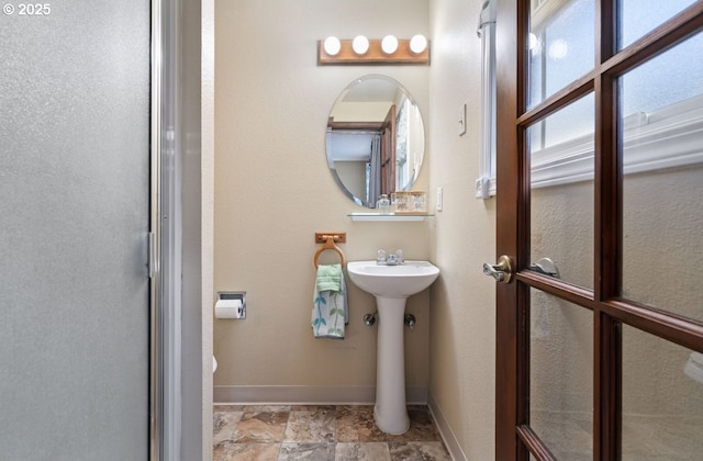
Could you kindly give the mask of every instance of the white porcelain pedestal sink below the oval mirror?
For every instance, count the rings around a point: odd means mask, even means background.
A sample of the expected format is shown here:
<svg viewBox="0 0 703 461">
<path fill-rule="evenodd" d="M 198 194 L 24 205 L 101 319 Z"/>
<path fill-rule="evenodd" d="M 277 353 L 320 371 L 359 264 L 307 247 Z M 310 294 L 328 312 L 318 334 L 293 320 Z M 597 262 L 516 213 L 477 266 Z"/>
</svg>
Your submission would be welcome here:
<svg viewBox="0 0 703 461">
<path fill-rule="evenodd" d="M 378 307 L 373 419 L 384 432 L 403 434 L 410 427 L 403 348 L 405 300 L 429 286 L 439 269 L 427 261 L 380 266 L 373 260 L 349 262 L 347 272 L 355 285 L 376 296 Z"/>
</svg>

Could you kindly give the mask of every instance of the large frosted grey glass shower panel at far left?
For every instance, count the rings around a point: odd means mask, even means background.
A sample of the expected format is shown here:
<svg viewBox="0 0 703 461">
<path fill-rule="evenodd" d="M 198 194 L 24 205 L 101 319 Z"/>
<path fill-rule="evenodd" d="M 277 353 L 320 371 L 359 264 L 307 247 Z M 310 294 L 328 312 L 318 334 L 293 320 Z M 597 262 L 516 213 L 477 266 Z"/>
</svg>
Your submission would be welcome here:
<svg viewBox="0 0 703 461">
<path fill-rule="evenodd" d="M 142 0 L 0 14 L 2 460 L 148 457 L 149 29 Z"/>
</svg>

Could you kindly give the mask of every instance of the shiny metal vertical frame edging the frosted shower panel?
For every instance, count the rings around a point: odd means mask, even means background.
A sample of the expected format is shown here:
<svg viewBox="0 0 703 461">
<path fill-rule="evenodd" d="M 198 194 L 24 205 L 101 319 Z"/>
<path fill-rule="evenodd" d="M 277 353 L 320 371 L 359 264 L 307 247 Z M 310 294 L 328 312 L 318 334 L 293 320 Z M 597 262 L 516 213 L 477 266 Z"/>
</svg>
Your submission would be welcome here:
<svg viewBox="0 0 703 461">
<path fill-rule="evenodd" d="M 160 461 L 181 458 L 179 1 L 150 3 L 149 460 Z"/>
</svg>

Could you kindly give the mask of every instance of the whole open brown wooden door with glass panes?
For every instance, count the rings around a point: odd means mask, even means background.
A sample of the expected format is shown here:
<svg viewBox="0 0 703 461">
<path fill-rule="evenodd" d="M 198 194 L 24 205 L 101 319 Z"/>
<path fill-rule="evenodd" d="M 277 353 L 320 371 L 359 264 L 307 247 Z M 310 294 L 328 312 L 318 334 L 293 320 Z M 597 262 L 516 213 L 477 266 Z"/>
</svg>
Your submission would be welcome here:
<svg viewBox="0 0 703 461">
<path fill-rule="evenodd" d="M 698 459 L 703 1 L 498 0 L 496 27 L 495 458 Z"/>
</svg>

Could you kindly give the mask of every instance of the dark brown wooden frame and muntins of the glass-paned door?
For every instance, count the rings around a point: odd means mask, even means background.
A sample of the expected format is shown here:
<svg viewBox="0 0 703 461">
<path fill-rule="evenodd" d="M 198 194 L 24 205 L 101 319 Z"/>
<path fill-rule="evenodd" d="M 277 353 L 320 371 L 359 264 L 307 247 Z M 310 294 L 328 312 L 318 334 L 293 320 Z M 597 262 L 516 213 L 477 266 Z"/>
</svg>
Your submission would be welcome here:
<svg viewBox="0 0 703 461">
<path fill-rule="evenodd" d="M 498 0 L 496 9 L 496 259 L 511 257 L 516 276 L 496 284 L 495 459 L 555 459 L 528 426 L 531 288 L 593 312 L 593 450 L 602 460 L 621 458 L 622 324 L 693 350 L 703 350 L 703 323 L 620 297 L 622 282 L 622 160 L 618 155 L 617 78 L 703 30 L 703 2 L 655 29 L 627 48 L 615 49 L 617 0 L 596 0 L 594 70 L 545 103 L 526 110 L 529 2 Z M 526 126 L 587 93 L 595 100 L 594 289 L 527 270 L 529 267 L 529 171 Z M 604 108 L 610 108 L 605 110 Z M 507 128 L 506 128 L 507 127 Z M 502 130 L 501 130 L 502 128 Z M 514 156 L 514 161 L 510 161 Z M 507 158 L 505 161 L 500 159 Z M 522 306 L 522 307 L 521 307 Z"/>
</svg>

